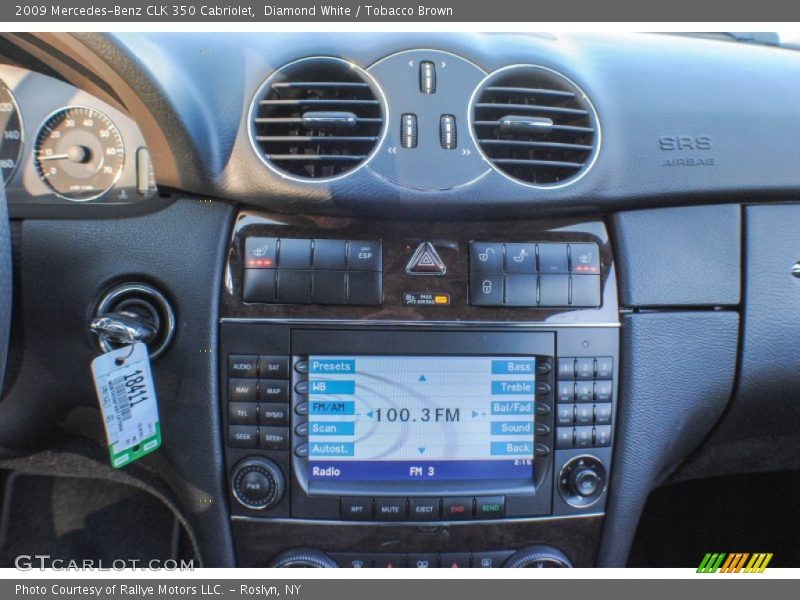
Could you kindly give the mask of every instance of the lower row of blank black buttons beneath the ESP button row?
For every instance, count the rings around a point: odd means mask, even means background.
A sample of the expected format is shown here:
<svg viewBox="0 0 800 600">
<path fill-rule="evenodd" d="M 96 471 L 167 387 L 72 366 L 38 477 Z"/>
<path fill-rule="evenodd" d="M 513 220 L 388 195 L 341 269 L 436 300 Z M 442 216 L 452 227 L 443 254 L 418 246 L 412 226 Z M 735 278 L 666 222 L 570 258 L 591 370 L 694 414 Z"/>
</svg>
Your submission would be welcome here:
<svg viewBox="0 0 800 600">
<path fill-rule="evenodd" d="M 251 304 L 375 305 L 383 300 L 383 275 L 373 271 L 246 269 L 242 297 Z"/>
</svg>

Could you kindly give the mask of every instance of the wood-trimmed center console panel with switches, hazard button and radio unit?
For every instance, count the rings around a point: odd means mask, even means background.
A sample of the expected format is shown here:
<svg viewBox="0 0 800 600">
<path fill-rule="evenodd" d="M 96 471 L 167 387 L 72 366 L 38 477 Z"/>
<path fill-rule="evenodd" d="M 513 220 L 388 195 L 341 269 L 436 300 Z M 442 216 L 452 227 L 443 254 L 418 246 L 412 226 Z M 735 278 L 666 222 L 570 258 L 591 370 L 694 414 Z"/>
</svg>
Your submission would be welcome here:
<svg viewBox="0 0 800 600">
<path fill-rule="evenodd" d="M 593 561 L 619 365 L 602 223 L 243 213 L 222 313 L 239 564 Z"/>
</svg>

